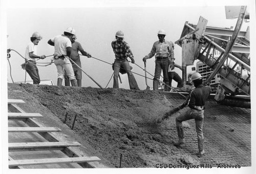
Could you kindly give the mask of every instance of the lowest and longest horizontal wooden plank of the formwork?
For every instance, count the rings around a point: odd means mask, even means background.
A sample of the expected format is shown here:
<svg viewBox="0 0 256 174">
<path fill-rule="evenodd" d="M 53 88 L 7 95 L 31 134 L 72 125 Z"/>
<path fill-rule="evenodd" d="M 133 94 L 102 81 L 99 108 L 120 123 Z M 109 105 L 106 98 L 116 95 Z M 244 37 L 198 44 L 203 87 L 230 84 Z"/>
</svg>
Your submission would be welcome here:
<svg viewBox="0 0 256 174">
<path fill-rule="evenodd" d="M 40 165 L 40 164 L 84 163 L 84 162 L 95 162 L 95 161 L 100 161 L 100 159 L 98 157 L 74 157 L 74 158 L 13 160 L 13 161 L 9 161 L 9 167 Z"/>
</svg>

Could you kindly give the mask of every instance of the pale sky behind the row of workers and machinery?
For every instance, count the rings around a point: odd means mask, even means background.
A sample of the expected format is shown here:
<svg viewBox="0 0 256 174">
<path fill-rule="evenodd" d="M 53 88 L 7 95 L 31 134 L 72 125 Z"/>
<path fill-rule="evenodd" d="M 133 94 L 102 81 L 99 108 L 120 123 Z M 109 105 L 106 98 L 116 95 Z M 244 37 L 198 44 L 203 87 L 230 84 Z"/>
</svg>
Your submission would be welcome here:
<svg viewBox="0 0 256 174">
<path fill-rule="evenodd" d="M 143 2 L 143 1 L 140 1 Z M 114 4 L 114 3 L 113 3 Z M 84 5 L 84 4 L 83 4 Z M 124 32 L 124 40 L 130 45 L 133 52 L 135 63 L 144 68 L 142 58 L 150 53 L 153 43 L 158 40 L 157 32 L 160 29 L 166 31 L 166 40 L 175 42 L 180 38 L 185 21 L 191 24 L 197 24 L 199 17 L 202 16 L 208 20 L 207 26 L 215 27 L 235 27 L 237 19 L 226 19 L 225 6 L 209 6 L 203 4 L 194 7 L 172 6 L 167 4 L 163 7 L 151 6 L 121 6 L 106 5 L 105 7 L 81 7 L 81 8 L 56 8 L 42 6 L 30 8 L 17 8 L 10 6 L 6 10 L 7 14 L 7 48 L 16 50 L 25 56 L 25 49 L 30 42 L 33 32 L 39 32 L 43 39 L 37 46 L 39 55 L 52 55 L 54 48 L 47 44 L 47 41 L 55 35 L 62 34 L 68 27 L 74 27 L 76 30 L 77 41 L 81 43 L 85 51 L 93 57 L 104 60 L 109 63 L 114 62 L 114 53 L 111 48 L 111 42 L 115 39 L 115 33 L 118 30 Z M 34 5 L 32 5 L 34 6 Z M 39 7 L 39 8 L 38 8 Z M 244 24 L 243 29 L 246 30 Z M 181 48 L 175 46 L 176 63 L 181 65 Z M 38 62 L 50 62 L 51 57 Z M 25 80 L 25 70 L 21 69 L 20 64 L 24 59 L 15 52 L 11 52 L 9 59 L 12 69 L 12 78 L 14 81 Z M 130 58 L 129 58 L 130 60 Z M 103 88 L 111 78 L 113 73 L 110 64 L 101 62 L 94 58 L 81 56 L 82 69 L 97 81 Z M 130 63 L 133 72 L 144 76 L 144 71 Z M 45 65 L 45 64 L 38 64 Z M 191 68 L 187 68 L 189 71 Z M 55 64 L 47 67 L 39 67 L 40 79 L 52 79 L 56 84 L 57 70 Z M 154 75 L 155 58 L 147 60 L 147 71 Z M 181 76 L 181 71 L 177 69 Z M 145 78 L 134 74 L 139 88 L 144 90 Z M 147 75 L 153 79 L 151 75 Z M 27 79 L 31 79 L 27 74 Z M 121 75 L 122 84 L 119 82 L 119 88 L 129 89 L 127 75 Z M 10 68 L 8 66 L 8 82 L 11 81 Z M 148 85 L 153 87 L 153 81 L 148 79 Z M 177 83 L 173 83 L 176 86 Z M 64 83 L 63 83 L 64 85 Z M 86 74 L 82 73 L 82 86 L 96 87 Z M 112 88 L 113 78 L 108 87 Z"/>
</svg>

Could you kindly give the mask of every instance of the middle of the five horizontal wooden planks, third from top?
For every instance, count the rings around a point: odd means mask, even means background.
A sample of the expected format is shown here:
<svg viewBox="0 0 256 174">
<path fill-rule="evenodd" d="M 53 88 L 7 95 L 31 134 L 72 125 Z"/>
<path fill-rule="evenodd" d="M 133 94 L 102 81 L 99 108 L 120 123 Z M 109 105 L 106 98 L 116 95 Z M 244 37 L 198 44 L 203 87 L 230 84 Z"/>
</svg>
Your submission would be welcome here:
<svg viewBox="0 0 256 174">
<path fill-rule="evenodd" d="M 58 127 L 8 127 L 9 133 L 60 132 Z"/>
</svg>

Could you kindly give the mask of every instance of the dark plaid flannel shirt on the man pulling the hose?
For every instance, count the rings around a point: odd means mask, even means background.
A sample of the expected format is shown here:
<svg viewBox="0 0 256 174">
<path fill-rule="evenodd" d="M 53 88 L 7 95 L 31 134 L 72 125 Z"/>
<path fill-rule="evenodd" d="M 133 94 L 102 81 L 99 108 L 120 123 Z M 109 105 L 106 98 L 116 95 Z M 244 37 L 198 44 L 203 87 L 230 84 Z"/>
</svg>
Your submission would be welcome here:
<svg viewBox="0 0 256 174">
<path fill-rule="evenodd" d="M 131 59 L 134 58 L 130 46 L 127 44 L 127 42 L 122 41 L 121 44 L 118 44 L 117 40 L 114 40 L 112 41 L 111 46 L 115 53 L 116 59 L 125 60 L 127 57 L 130 57 Z"/>
</svg>

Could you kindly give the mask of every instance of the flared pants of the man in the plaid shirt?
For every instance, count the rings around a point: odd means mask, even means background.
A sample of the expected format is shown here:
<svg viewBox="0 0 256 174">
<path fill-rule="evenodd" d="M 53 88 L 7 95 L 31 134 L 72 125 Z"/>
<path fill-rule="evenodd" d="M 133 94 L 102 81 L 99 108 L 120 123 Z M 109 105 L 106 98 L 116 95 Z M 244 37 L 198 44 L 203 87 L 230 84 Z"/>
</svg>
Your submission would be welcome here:
<svg viewBox="0 0 256 174">
<path fill-rule="evenodd" d="M 114 67 L 114 77 L 113 77 L 114 78 L 113 88 L 119 88 L 118 74 L 119 74 L 120 67 L 122 67 L 125 71 L 127 70 L 126 73 L 128 76 L 130 89 L 139 90 L 137 81 L 135 80 L 135 77 L 131 72 L 130 64 L 127 60 L 116 59 L 114 66 L 115 67 Z"/>
</svg>

